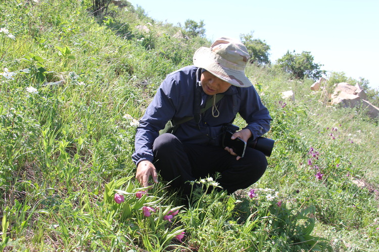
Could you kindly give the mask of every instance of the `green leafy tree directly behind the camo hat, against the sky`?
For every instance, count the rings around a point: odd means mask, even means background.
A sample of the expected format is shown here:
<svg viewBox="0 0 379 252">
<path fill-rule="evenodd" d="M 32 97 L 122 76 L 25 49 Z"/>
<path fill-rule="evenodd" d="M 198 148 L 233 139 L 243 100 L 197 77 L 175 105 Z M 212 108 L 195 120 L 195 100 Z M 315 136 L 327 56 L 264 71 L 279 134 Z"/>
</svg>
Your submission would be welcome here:
<svg viewBox="0 0 379 252">
<path fill-rule="evenodd" d="M 260 39 L 253 39 L 253 32 L 249 34 L 240 35 L 241 42 L 243 42 L 250 54 L 250 63 L 256 62 L 258 65 L 270 64 L 269 53 L 270 46 L 265 41 Z"/>
</svg>

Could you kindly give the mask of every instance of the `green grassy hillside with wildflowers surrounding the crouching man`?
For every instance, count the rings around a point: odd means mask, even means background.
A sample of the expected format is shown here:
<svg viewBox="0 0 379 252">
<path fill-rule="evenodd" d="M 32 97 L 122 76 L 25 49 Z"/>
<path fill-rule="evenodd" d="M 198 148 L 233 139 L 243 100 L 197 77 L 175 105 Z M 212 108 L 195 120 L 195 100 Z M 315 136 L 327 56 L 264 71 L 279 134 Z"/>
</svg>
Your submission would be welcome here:
<svg viewBox="0 0 379 252">
<path fill-rule="evenodd" d="M 190 206 L 164 182 L 139 198 L 136 120 L 210 41 L 130 5 L 102 19 L 90 10 L 89 0 L 0 3 L 0 249 L 379 250 L 377 121 L 270 68 L 247 69 L 276 140 L 256 184 L 230 197 L 196 191 Z M 283 100 L 290 89 L 296 100 Z"/>
</svg>

